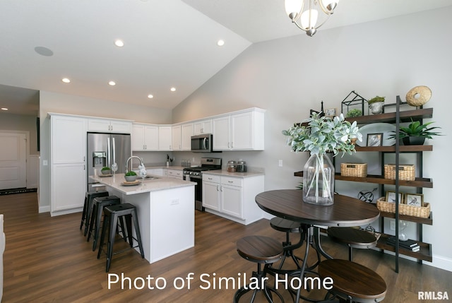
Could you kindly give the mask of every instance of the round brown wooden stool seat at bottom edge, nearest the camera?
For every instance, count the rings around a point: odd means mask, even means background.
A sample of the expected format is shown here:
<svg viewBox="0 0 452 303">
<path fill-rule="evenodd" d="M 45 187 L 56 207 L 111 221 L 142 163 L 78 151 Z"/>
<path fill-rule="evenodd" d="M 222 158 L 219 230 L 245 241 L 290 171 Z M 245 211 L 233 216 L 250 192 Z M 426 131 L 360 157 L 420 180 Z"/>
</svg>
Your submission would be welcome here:
<svg viewBox="0 0 452 303">
<path fill-rule="evenodd" d="M 380 302 L 386 295 L 386 283 L 370 268 L 358 263 L 328 259 L 319 264 L 321 278 L 332 278 L 330 292 L 350 302 Z"/>
</svg>

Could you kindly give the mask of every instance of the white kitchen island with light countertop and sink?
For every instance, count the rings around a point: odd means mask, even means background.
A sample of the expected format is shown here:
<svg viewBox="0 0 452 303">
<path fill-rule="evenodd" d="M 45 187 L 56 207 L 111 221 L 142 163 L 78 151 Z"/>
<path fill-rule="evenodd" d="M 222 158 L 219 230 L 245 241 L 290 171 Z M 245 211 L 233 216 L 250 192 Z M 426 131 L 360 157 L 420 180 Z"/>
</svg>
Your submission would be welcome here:
<svg viewBox="0 0 452 303">
<path fill-rule="evenodd" d="M 121 203 L 136 206 L 144 256 L 149 263 L 194 246 L 196 183 L 155 176 L 138 185 L 124 186 L 124 174 L 90 178 L 104 184 L 110 196 L 118 196 Z"/>
</svg>

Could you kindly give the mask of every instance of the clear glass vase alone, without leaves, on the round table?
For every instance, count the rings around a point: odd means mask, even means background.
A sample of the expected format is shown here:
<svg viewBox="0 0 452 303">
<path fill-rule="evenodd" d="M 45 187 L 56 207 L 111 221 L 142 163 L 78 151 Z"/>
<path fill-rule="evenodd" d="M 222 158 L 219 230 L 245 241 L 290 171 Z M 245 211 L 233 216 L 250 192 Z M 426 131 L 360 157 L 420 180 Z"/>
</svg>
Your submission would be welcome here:
<svg viewBox="0 0 452 303">
<path fill-rule="evenodd" d="M 311 155 L 303 169 L 303 201 L 328 206 L 334 203 L 334 166 L 327 155 Z"/>
</svg>

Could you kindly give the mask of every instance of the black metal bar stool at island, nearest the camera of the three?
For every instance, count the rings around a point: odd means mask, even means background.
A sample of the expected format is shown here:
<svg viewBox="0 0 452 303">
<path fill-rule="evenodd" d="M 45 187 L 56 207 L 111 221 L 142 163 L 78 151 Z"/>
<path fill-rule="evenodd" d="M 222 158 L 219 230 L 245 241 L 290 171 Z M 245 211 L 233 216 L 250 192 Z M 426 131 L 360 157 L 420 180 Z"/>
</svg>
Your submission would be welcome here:
<svg viewBox="0 0 452 303">
<path fill-rule="evenodd" d="M 102 234 L 100 236 L 100 244 L 99 244 L 99 251 L 97 252 L 97 259 L 100 258 L 100 254 L 102 253 L 102 246 L 104 245 L 105 241 L 105 235 L 107 234 L 107 267 L 105 269 L 106 272 L 109 271 L 110 264 L 112 263 L 112 256 L 113 254 L 119 254 L 120 252 L 124 251 L 116 251 L 113 253 L 113 246 L 114 246 L 114 238 L 116 236 L 116 227 L 117 222 L 122 217 L 126 218 L 126 226 L 127 226 L 127 238 L 129 238 L 129 249 L 133 249 L 136 246 L 133 246 L 133 239 L 138 242 L 138 247 L 140 249 L 141 258 L 144 259 L 144 251 L 143 251 L 143 244 L 141 244 L 141 233 L 140 233 L 140 226 L 138 225 L 138 217 L 136 214 L 136 207 L 129 204 L 129 203 L 123 203 L 123 204 L 117 204 L 113 206 L 105 206 L 104 208 L 104 222 L 102 223 Z M 133 227 L 135 227 L 135 234 L 136 238 L 133 237 L 132 234 L 132 220 L 133 220 Z M 108 232 L 107 232 L 108 231 Z"/>
</svg>

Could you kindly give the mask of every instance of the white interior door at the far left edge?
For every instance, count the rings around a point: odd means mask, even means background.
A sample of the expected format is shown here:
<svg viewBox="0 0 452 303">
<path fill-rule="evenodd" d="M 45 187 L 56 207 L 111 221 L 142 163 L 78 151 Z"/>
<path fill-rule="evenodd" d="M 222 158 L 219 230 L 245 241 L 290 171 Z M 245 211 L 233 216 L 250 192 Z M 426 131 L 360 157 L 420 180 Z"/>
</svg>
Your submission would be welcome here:
<svg viewBox="0 0 452 303">
<path fill-rule="evenodd" d="M 0 132 L 0 189 L 27 186 L 25 133 Z"/>
</svg>

